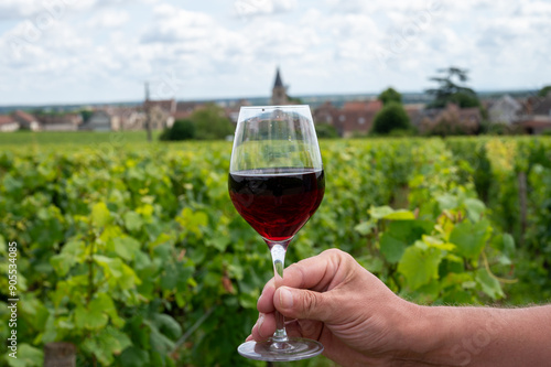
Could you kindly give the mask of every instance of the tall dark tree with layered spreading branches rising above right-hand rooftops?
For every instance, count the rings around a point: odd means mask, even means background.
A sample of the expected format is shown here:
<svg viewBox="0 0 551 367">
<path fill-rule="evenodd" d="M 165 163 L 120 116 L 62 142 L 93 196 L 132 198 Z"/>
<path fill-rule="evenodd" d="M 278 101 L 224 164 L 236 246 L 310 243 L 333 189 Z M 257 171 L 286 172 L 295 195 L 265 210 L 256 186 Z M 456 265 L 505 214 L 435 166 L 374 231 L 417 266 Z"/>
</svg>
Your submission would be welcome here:
<svg viewBox="0 0 551 367">
<path fill-rule="evenodd" d="M 429 107 L 442 108 L 447 102 L 457 104 L 462 108 L 480 106 L 476 93 L 464 85 L 468 80 L 467 69 L 451 66 L 449 68 L 440 68 L 436 72 L 440 75 L 429 79 L 435 82 L 439 86 L 425 90 L 429 95 L 434 96 L 434 100 Z"/>
</svg>

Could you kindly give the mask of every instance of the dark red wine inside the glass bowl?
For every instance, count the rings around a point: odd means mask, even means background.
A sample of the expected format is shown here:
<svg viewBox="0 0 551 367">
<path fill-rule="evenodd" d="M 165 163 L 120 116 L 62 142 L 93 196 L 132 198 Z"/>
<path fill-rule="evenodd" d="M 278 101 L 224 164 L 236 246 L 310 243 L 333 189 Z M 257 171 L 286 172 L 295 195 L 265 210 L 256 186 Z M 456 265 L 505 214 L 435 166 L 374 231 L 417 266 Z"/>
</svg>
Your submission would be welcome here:
<svg viewBox="0 0 551 367">
<path fill-rule="evenodd" d="M 237 212 L 269 241 L 292 238 L 322 203 L 323 170 L 262 169 L 229 174 Z"/>
</svg>

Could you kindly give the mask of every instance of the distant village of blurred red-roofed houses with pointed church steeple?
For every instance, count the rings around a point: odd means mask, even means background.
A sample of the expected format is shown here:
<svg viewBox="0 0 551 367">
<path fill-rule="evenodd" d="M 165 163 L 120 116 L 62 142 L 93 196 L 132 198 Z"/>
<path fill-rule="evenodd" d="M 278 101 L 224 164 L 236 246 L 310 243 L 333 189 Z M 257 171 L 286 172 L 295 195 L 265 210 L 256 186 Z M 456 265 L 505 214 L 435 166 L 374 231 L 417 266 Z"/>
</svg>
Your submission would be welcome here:
<svg viewBox="0 0 551 367">
<path fill-rule="evenodd" d="M 290 98 L 288 87 L 283 84 L 278 68 L 272 87 L 271 105 L 292 105 L 300 99 Z M 539 134 L 551 131 L 551 93 L 547 96 L 528 96 L 515 98 L 503 95 L 498 98 L 485 99 L 483 109 L 478 107 L 460 108 L 447 104 L 444 108 L 428 108 L 424 104 L 407 104 L 403 106 L 411 125 L 420 134 L 430 133 L 434 127 L 443 123 L 452 126 L 466 134 L 480 132 L 483 123 L 505 127 L 515 133 Z M 249 106 L 246 99 L 220 106 L 227 118 L 237 121 L 241 106 Z M 194 111 L 205 108 L 206 102 L 149 100 L 138 106 L 99 106 L 82 111 L 64 114 L 36 114 L 15 110 L 9 115 L 0 115 L 0 132 L 17 130 L 31 131 L 122 131 L 144 130 L 149 125 L 153 130 L 170 128 L 174 121 L 187 119 Z M 332 101 L 314 108 L 313 117 L 316 125 L 328 125 L 336 129 L 338 136 L 349 138 L 366 136 L 371 130 L 374 119 L 382 109 L 381 100 L 377 98 L 347 101 L 336 106 Z"/>
</svg>

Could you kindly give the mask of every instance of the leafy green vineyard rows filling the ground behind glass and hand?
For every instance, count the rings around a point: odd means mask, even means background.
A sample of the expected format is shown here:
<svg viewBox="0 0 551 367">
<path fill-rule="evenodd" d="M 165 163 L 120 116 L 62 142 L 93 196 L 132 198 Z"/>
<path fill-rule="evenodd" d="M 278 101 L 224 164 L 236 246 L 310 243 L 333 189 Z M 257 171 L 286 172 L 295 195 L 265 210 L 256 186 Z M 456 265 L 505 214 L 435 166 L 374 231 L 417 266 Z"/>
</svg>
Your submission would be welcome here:
<svg viewBox="0 0 551 367">
<path fill-rule="evenodd" d="M 6 145 L 4 145 L 6 147 Z M 424 304 L 551 299 L 551 138 L 321 141 L 326 192 L 288 265 L 352 253 Z M 18 359 L 77 366 L 266 366 L 240 357 L 269 251 L 227 193 L 231 144 L 7 145 L 0 293 L 17 241 Z M 0 337 L 10 330 L 0 302 Z M 299 363 L 332 366 L 324 358 Z"/>
</svg>

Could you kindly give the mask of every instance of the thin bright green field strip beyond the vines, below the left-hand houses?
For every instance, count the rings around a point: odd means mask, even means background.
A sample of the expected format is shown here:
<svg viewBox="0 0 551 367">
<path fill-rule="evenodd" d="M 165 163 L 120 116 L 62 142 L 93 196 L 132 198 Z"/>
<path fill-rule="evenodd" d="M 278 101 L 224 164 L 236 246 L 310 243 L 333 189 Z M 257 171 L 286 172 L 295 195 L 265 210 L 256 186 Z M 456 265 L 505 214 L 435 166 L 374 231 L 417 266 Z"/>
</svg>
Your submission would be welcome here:
<svg viewBox="0 0 551 367">
<path fill-rule="evenodd" d="M 153 131 L 159 140 L 161 131 Z M 100 144 L 147 142 L 145 131 L 15 131 L 0 132 L 0 147 L 51 145 L 51 144 Z"/>
</svg>

